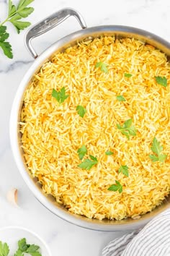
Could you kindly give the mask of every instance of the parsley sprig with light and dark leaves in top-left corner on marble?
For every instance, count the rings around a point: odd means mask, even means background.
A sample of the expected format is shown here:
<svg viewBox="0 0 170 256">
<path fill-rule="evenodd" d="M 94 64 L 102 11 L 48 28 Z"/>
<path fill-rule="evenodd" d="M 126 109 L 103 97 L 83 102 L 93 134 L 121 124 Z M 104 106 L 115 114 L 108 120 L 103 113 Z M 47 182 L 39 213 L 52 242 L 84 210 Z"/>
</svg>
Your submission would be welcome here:
<svg viewBox="0 0 170 256">
<path fill-rule="evenodd" d="M 20 33 L 21 30 L 29 27 L 31 25 L 30 22 L 23 22 L 21 20 L 22 18 L 28 17 L 34 11 L 34 8 L 27 7 L 32 1 L 34 0 L 20 0 L 19 4 L 15 6 L 12 3 L 12 0 L 9 0 L 8 16 L 4 22 L 0 23 L 0 47 L 9 59 L 13 58 L 12 46 L 9 42 L 6 42 L 6 39 L 9 38 L 9 33 L 6 32 L 7 27 L 4 26 L 4 24 L 6 22 L 11 22 L 17 29 L 17 33 Z"/>
</svg>

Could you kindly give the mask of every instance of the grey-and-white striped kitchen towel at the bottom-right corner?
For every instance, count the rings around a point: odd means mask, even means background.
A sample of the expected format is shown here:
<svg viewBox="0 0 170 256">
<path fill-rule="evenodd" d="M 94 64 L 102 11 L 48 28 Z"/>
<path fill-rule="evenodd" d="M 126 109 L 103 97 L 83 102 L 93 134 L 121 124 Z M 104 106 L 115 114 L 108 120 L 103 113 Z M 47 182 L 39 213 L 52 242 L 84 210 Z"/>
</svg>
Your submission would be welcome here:
<svg viewBox="0 0 170 256">
<path fill-rule="evenodd" d="M 140 231 L 113 240 L 102 256 L 170 256 L 170 208 Z"/>
</svg>

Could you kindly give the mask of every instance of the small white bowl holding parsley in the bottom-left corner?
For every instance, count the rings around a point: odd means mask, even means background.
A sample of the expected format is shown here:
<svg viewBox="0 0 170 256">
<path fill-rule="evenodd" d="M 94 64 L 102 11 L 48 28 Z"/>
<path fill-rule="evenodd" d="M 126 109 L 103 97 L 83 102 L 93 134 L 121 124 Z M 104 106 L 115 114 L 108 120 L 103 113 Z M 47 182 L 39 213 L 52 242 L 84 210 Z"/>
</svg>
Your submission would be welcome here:
<svg viewBox="0 0 170 256">
<path fill-rule="evenodd" d="M 27 244 L 36 244 L 40 247 L 42 256 L 51 256 L 47 244 L 34 232 L 19 226 L 7 226 L 0 229 L 0 241 L 9 245 L 9 255 L 14 255 L 18 248 L 17 242 L 25 238 Z"/>
</svg>

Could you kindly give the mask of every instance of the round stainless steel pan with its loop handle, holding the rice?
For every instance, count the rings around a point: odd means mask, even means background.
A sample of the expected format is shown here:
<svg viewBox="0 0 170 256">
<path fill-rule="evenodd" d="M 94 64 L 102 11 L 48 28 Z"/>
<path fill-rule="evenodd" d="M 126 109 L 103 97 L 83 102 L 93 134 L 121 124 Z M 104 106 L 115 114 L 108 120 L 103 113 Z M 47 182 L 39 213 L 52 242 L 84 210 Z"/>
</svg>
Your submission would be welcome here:
<svg viewBox="0 0 170 256">
<path fill-rule="evenodd" d="M 79 30 L 76 33 L 72 33 L 62 38 L 61 40 L 58 40 L 47 50 L 45 50 L 42 54 L 40 54 L 40 56 L 37 56 L 34 48 L 32 48 L 32 38 L 35 38 L 47 32 L 48 30 L 52 29 L 53 27 L 63 22 L 63 20 L 66 20 L 70 16 L 76 17 L 83 30 Z M 84 227 L 86 229 L 94 229 L 99 231 L 137 229 L 139 226 L 143 226 L 145 223 L 151 220 L 151 218 L 156 216 L 158 213 L 161 213 L 166 208 L 169 208 L 170 196 L 167 197 L 166 200 L 164 200 L 164 202 L 159 207 L 157 207 L 151 213 L 147 213 L 141 216 L 141 218 L 138 220 L 127 218 L 122 221 L 99 221 L 97 219 L 89 219 L 84 216 L 74 215 L 73 213 L 68 212 L 66 208 L 63 208 L 62 205 L 59 205 L 57 202 L 55 202 L 52 196 L 45 195 L 42 192 L 40 184 L 37 183 L 36 179 L 32 179 L 29 171 L 27 171 L 27 166 L 24 162 L 23 152 L 20 145 L 21 135 L 19 134 L 19 116 L 20 110 L 22 108 L 22 99 L 24 91 L 26 90 L 27 85 L 32 79 L 33 74 L 35 74 L 40 69 L 41 65 L 45 61 L 48 61 L 56 51 L 64 51 L 69 46 L 73 46 L 74 44 L 76 44 L 76 42 L 79 40 L 86 40 L 86 38 L 97 38 L 100 35 L 115 35 L 116 38 L 138 38 L 160 49 L 166 54 L 166 56 L 168 56 L 168 58 L 170 58 L 170 43 L 168 43 L 166 40 L 162 38 L 159 38 L 157 35 L 153 35 L 151 33 L 146 32 L 145 30 L 139 30 L 138 28 L 125 27 L 119 25 L 106 25 L 86 28 L 86 23 L 84 22 L 84 19 L 81 17 L 81 14 L 79 14 L 79 12 L 76 12 L 76 10 L 61 9 L 60 11 L 55 12 L 54 14 L 45 18 L 45 20 L 42 20 L 41 22 L 37 23 L 37 25 L 31 27 L 25 37 L 26 47 L 28 51 L 30 51 L 30 54 L 36 60 L 32 64 L 32 67 L 30 67 L 30 69 L 24 75 L 24 78 L 17 90 L 16 97 L 14 98 L 10 119 L 10 138 L 12 144 L 12 151 L 14 154 L 14 159 L 19 168 L 20 174 L 22 175 L 27 186 L 33 192 L 35 197 L 37 197 L 37 200 L 39 200 L 42 203 L 42 205 L 48 208 L 51 212 L 55 213 L 56 216 L 61 217 L 68 222 Z"/>
</svg>

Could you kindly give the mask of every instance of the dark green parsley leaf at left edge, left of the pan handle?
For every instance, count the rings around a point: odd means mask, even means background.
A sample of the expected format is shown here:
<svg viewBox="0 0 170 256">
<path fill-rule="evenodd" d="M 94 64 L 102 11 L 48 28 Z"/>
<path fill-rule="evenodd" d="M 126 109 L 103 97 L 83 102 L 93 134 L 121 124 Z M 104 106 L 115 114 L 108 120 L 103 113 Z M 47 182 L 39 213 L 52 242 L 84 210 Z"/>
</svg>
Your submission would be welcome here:
<svg viewBox="0 0 170 256">
<path fill-rule="evenodd" d="M 6 33 L 6 26 L 0 26 L 0 47 L 4 51 L 4 54 L 9 57 L 9 59 L 12 59 L 12 46 L 9 42 L 6 42 L 7 38 L 9 38 L 9 33 Z"/>
</svg>

